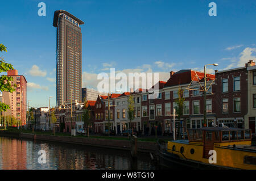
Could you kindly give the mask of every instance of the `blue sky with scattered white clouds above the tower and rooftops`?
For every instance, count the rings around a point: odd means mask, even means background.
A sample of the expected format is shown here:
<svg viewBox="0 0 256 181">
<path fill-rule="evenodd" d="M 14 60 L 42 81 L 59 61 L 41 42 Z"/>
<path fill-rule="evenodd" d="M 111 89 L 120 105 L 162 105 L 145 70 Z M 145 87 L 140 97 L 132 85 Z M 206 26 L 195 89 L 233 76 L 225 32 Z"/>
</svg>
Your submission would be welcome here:
<svg viewBox="0 0 256 181">
<path fill-rule="evenodd" d="M 46 16 L 38 16 L 38 3 Z M 217 16 L 209 16 L 210 2 Z M 166 81 L 171 70 L 222 70 L 256 60 L 256 1 L 253 0 L 112 0 L 3 1 L 0 6 L 0 55 L 28 82 L 34 107 L 56 101 L 55 10 L 66 10 L 85 22 L 82 28 L 83 87 L 97 89 L 97 74 L 154 71 Z M 31 68 L 36 71 L 31 71 Z"/>
</svg>

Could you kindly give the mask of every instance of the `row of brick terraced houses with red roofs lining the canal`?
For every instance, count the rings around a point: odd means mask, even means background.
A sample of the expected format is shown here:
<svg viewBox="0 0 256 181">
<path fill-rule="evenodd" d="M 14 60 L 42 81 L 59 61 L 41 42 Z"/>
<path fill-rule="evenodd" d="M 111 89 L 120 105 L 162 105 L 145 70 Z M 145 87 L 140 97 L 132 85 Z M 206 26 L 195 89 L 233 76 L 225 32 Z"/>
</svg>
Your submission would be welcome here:
<svg viewBox="0 0 256 181">
<path fill-rule="evenodd" d="M 178 90 L 183 89 L 183 115 L 175 119 L 175 126 L 180 132 L 187 128 L 203 127 L 204 120 L 204 73 L 195 70 L 171 71 L 167 82 L 159 81 L 159 93 L 156 99 L 148 99 L 149 92 L 139 89 L 123 94 L 98 95 L 96 101 L 88 101 L 91 110 L 90 132 L 102 133 L 108 129 L 108 101 L 110 103 L 110 124 L 116 134 L 127 129 L 144 135 L 162 135 L 164 131 L 172 132 L 175 100 Z M 244 67 L 215 71 L 207 74 L 207 127 L 212 123 L 228 127 L 251 129 L 255 133 L 256 121 L 256 66 L 250 60 Z M 191 90 L 189 90 L 191 89 Z M 134 116 L 128 117 L 128 99 L 134 99 Z M 71 106 L 69 104 L 69 106 Z M 84 128 L 82 121 L 82 103 L 73 104 L 73 128 L 80 131 Z M 70 132 L 70 109 L 55 110 L 57 129 Z"/>
</svg>

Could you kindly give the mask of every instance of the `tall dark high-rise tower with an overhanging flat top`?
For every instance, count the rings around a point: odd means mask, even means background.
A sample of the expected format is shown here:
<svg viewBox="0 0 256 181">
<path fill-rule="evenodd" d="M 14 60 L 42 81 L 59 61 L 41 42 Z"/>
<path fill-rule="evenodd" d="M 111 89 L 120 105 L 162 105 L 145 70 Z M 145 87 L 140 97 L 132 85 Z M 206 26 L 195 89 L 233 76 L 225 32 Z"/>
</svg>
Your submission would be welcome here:
<svg viewBox="0 0 256 181">
<path fill-rule="evenodd" d="M 81 101 L 82 97 L 82 20 L 64 10 L 54 12 L 56 38 L 56 104 Z"/>
</svg>

